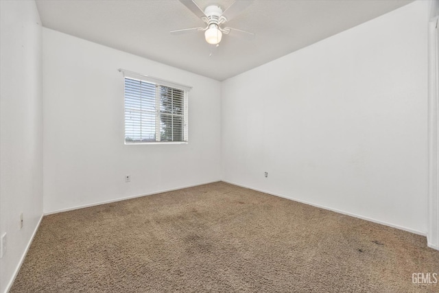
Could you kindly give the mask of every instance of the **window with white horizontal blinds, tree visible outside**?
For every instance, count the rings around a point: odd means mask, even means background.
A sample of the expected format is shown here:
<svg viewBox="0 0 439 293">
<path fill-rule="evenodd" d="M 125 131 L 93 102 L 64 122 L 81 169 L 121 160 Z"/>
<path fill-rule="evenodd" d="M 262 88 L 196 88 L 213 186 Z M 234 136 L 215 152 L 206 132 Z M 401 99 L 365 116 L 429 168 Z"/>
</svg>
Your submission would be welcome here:
<svg viewBox="0 0 439 293">
<path fill-rule="evenodd" d="M 125 143 L 187 142 L 188 91 L 124 73 Z"/>
</svg>

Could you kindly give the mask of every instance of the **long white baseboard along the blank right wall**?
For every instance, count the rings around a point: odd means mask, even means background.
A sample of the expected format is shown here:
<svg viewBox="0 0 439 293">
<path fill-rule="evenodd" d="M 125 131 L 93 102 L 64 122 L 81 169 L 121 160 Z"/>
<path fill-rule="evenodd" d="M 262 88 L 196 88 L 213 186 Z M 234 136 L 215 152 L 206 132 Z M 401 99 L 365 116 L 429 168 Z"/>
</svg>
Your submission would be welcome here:
<svg viewBox="0 0 439 293">
<path fill-rule="evenodd" d="M 274 194 L 274 193 L 272 193 L 270 191 L 265 191 L 265 190 L 262 190 L 262 189 L 256 189 L 256 188 L 248 187 L 246 185 L 241 185 L 239 183 L 233 183 L 233 182 L 228 181 L 228 180 L 223 180 L 223 181 L 226 182 L 226 183 L 230 183 L 230 184 L 233 184 L 233 185 L 240 186 L 240 187 L 252 189 L 254 191 L 263 192 L 264 194 L 270 194 L 272 196 L 278 196 L 279 198 L 286 198 L 287 200 L 293 200 L 295 202 L 300 202 L 302 204 L 308 204 L 308 205 L 311 205 L 313 207 L 318 207 L 320 209 L 327 209 L 329 211 L 335 211 L 335 213 L 342 213 L 343 215 L 350 215 L 351 217 L 359 218 L 361 220 L 366 220 L 366 221 L 369 221 L 369 222 L 374 222 L 374 223 L 381 224 L 381 225 L 384 225 L 384 226 L 390 226 L 392 228 L 397 228 L 399 230 L 407 231 L 407 232 L 414 233 L 414 234 L 421 235 L 421 236 L 427 236 L 427 232 L 416 231 L 416 230 L 413 230 L 411 228 L 406 228 L 404 226 L 399 226 L 399 225 L 396 225 L 396 224 L 391 224 L 391 223 L 388 223 L 388 222 L 383 222 L 383 221 L 380 221 L 380 220 L 375 220 L 375 219 L 372 219 L 372 218 L 365 217 L 363 215 L 357 215 L 355 213 L 349 213 L 348 211 L 341 211 L 340 209 L 333 209 L 331 207 L 325 207 L 324 205 L 321 205 L 321 204 L 316 204 L 314 202 L 308 202 L 306 200 L 299 200 L 299 199 L 293 198 L 291 196 L 284 196 L 283 194 Z"/>
</svg>

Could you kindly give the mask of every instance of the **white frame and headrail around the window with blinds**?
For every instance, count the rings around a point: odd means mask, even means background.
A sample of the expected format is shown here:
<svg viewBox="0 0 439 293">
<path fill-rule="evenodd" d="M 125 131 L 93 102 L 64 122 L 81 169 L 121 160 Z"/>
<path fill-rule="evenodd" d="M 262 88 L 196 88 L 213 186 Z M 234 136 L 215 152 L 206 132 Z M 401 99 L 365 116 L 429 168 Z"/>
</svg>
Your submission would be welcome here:
<svg viewBox="0 0 439 293">
<path fill-rule="evenodd" d="M 125 97 L 125 90 L 123 91 L 123 141 L 126 145 L 150 145 L 150 144 L 187 144 L 189 141 L 189 125 L 188 125 L 188 102 L 189 102 L 189 91 L 191 91 L 191 86 L 186 86 L 184 84 L 178 84 L 176 82 L 169 82 L 168 80 L 161 80 L 159 78 L 153 78 L 149 75 L 143 75 L 140 73 L 134 73 L 132 71 L 128 71 L 125 69 L 118 69 L 119 71 L 123 72 L 124 78 L 123 78 L 123 86 L 125 89 L 125 82 L 126 78 L 131 80 L 140 80 L 141 82 L 147 82 L 150 84 L 154 84 L 156 86 L 156 95 L 155 95 L 155 102 L 156 102 L 156 109 L 155 109 L 155 126 L 156 126 L 156 141 L 126 141 L 126 97 Z M 183 91 L 183 114 L 167 114 L 167 113 L 161 113 L 161 100 L 160 100 L 160 90 L 161 86 L 166 86 L 171 89 L 177 89 L 180 91 Z M 183 141 L 161 141 L 161 115 L 171 115 L 171 117 L 178 116 L 183 118 L 183 128 L 184 131 L 182 133 Z"/>
</svg>

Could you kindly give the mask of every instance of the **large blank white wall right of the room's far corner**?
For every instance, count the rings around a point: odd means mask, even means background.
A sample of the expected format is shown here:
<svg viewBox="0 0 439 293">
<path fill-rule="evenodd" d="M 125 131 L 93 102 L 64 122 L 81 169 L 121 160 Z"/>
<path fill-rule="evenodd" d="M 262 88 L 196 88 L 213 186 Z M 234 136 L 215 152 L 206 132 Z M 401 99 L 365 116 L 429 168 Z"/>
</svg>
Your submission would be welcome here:
<svg viewBox="0 0 439 293">
<path fill-rule="evenodd" d="M 425 233 L 428 5 L 226 80 L 223 179 Z"/>
</svg>

